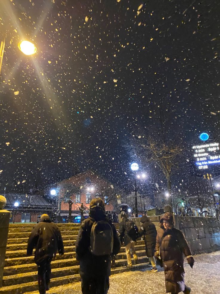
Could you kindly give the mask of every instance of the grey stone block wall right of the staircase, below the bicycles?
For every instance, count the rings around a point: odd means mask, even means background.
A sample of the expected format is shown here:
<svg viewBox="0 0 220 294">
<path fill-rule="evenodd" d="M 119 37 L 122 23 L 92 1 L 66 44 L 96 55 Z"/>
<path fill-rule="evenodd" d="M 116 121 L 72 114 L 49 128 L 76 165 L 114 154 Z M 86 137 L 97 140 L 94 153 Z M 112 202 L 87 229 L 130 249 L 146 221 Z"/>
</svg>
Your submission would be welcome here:
<svg viewBox="0 0 220 294">
<path fill-rule="evenodd" d="M 140 218 L 132 218 L 140 228 Z M 149 216 L 159 228 L 160 216 Z M 175 227 L 186 236 L 193 254 L 210 253 L 220 250 L 220 222 L 216 218 L 175 215 Z"/>
</svg>

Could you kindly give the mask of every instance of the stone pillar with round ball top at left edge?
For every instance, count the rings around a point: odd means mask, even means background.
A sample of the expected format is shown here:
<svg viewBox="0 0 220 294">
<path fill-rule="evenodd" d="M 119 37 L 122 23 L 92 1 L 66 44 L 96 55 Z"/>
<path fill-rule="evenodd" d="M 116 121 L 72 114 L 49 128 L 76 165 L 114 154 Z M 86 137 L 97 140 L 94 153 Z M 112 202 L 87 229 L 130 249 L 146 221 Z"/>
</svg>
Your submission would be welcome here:
<svg viewBox="0 0 220 294">
<path fill-rule="evenodd" d="M 5 251 L 7 246 L 8 227 L 10 219 L 10 211 L 4 208 L 6 205 L 6 198 L 0 195 L 0 287 L 2 287 Z"/>
</svg>

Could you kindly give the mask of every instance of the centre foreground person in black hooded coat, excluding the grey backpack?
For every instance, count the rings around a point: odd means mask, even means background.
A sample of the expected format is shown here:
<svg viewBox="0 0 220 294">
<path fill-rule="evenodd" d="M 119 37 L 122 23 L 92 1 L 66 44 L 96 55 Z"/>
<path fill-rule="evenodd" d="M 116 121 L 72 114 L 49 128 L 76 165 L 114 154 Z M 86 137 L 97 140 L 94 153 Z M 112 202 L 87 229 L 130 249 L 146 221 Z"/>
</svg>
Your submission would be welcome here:
<svg viewBox="0 0 220 294">
<path fill-rule="evenodd" d="M 113 255 L 120 251 L 120 241 L 111 219 L 105 214 L 105 203 L 101 198 L 90 202 L 89 217 L 80 227 L 76 241 L 76 258 L 80 261 L 81 289 L 83 294 L 106 294 L 111 275 L 111 256 L 95 256 L 90 250 L 90 235 L 94 221 L 106 221 L 113 232 Z"/>
</svg>

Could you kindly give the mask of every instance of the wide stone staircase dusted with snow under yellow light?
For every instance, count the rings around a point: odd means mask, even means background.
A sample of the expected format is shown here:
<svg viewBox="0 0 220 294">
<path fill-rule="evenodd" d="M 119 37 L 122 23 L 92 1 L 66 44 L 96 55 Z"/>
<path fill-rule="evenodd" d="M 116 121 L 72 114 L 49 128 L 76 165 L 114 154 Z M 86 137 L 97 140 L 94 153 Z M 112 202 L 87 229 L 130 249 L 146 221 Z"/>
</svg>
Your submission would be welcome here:
<svg viewBox="0 0 220 294">
<path fill-rule="evenodd" d="M 57 255 L 51 262 L 51 287 L 80 281 L 79 262 L 75 256 L 75 242 L 80 224 L 57 224 L 64 242 L 65 254 Z M 3 287 L 0 294 L 21 294 L 38 290 L 37 266 L 33 256 L 26 255 L 27 242 L 34 224 L 10 224 L 5 265 Z M 116 224 L 118 228 L 118 224 Z M 144 241 L 137 241 L 136 252 L 138 264 L 132 269 L 146 267 L 148 261 L 145 252 Z M 115 269 L 112 273 L 131 270 L 126 268 L 127 260 L 125 248 L 115 258 Z"/>
</svg>

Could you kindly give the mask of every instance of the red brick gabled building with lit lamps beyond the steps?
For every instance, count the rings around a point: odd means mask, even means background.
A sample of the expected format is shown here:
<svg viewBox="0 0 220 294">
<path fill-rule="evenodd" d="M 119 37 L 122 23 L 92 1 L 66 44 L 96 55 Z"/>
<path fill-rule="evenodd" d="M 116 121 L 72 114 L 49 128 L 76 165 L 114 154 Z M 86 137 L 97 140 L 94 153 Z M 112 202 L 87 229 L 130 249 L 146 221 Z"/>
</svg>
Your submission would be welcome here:
<svg viewBox="0 0 220 294">
<path fill-rule="evenodd" d="M 89 203 L 94 197 L 101 197 L 104 200 L 106 210 L 115 210 L 117 203 L 116 195 L 120 193 L 117 187 L 92 170 L 76 174 L 56 183 L 56 191 L 58 214 L 63 216 L 63 221 L 68 216 L 69 199 L 73 201 L 72 215 L 80 215 L 79 206 L 81 203 L 88 209 Z M 85 215 L 88 215 L 88 212 Z"/>
</svg>

